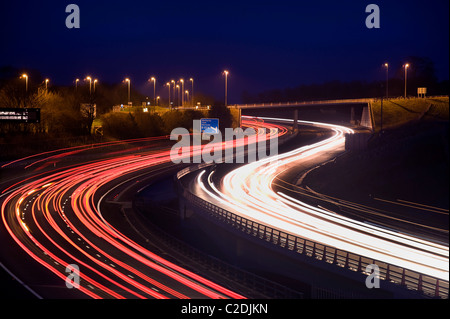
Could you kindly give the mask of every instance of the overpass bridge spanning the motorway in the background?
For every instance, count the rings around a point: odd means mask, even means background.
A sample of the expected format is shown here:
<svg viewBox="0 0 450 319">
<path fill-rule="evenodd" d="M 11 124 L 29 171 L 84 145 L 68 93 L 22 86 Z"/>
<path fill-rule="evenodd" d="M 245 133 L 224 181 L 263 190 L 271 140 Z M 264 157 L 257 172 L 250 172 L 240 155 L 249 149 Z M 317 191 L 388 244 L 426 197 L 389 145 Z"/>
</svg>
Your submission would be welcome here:
<svg viewBox="0 0 450 319">
<path fill-rule="evenodd" d="M 257 103 L 257 104 L 235 104 L 228 105 L 229 109 L 237 109 L 239 117 L 244 114 L 267 115 L 267 112 L 283 111 L 290 114 L 294 119 L 294 130 L 298 130 L 297 120 L 302 119 L 318 120 L 318 117 L 325 118 L 325 122 L 338 122 L 340 124 L 352 124 L 373 131 L 375 128 L 372 104 L 376 101 L 373 98 L 366 99 L 340 99 L 322 101 L 300 101 L 283 103 Z"/>
</svg>

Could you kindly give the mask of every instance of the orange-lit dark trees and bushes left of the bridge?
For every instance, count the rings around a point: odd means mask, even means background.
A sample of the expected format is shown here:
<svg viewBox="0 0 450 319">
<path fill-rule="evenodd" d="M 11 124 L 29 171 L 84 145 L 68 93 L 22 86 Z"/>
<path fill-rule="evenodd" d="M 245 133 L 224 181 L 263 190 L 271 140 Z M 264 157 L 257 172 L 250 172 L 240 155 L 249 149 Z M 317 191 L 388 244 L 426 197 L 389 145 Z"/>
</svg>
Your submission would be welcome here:
<svg viewBox="0 0 450 319">
<path fill-rule="evenodd" d="M 213 105 L 209 110 L 169 110 L 160 113 L 143 112 L 148 97 L 131 87 L 131 102 L 127 111 L 114 112 L 113 106 L 127 106 L 128 90 L 124 83 L 97 83 L 95 90 L 80 79 L 70 86 L 49 82 L 37 70 L 27 70 L 28 90 L 22 73 L 14 67 L 0 67 L 0 108 L 39 108 L 39 123 L 0 121 L 0 161 L 28 156 L 36 152 L 105 139 L 129 139 L 168 135 L 176 127 L 192 129 L 192 121 L 202 117 L 221 119 L 222 127 L 231 127 L 230 110 L 214 98 L 197 93 L 197 100 Z M 83 105 L 95 104 L 96 113 Z M 95 122 L 94 120 L 100 120 Z M 99 128 L 101 126 L 101 129 Z"/>
</svg>

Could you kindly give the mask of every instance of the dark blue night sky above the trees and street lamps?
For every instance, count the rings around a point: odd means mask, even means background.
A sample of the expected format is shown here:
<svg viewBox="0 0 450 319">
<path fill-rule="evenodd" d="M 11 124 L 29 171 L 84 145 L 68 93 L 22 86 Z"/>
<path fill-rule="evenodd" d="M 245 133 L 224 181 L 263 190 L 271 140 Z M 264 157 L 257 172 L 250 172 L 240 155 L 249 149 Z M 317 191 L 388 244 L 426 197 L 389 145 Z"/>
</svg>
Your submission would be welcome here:
<svg viewBox="0 0 450 319">
<path fill-rule="evenodd" d="M 65 8 L 75 3 L 81 28 L 68 29 Z M 368 29 L 365 8 L 375 3 L 381 28 Z M 141 91 L 155 76 L 195 79 L 195 89 L 223 92 L 294 87 L 330 80 L 373 81 L 388 61 L 433 60 L 448 79 L 449 1 L 2 1 L 0 66 L 38 69 L 53 83 L 92 75 L 125 77 Z"/>
</svg>

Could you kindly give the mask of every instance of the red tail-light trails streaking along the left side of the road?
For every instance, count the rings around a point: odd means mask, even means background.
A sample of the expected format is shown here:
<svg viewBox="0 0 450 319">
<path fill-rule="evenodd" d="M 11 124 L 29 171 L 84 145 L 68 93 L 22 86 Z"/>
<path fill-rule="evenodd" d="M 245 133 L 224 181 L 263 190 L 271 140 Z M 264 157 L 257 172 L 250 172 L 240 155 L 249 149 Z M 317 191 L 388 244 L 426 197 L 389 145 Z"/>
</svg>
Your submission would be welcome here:
<svg viewBox="0 0 450 319">
<path fill-rule="evenodd" d="M 278 131 L 281 126 L 261 121 L 244 120 L 243 124 L 255 128 L 257 134 L 245 140 L 223 142 L 224 148 L 261 141 L 258 134 L 268 139 L 286 133 L 284 128 Z M 269 133 L 261 130 L 263 127 L 269 127 Z M 30 167 L 88 149 L 92 146 L 22 160 L 33 159 L 26 166 Z M 192 149 L 191 155 L 201 151 L 201 147 Z M 142 247 L 108 223 L 104 218 L 107 212 L 100 212 L 95 198 L 103 198 L 102 192 L 109 185 L 141 171 L 156 170 L 170 161 L 170 149 L 165 148 L 35 174 L 3 190 L 3 224 L 19 247 L 62 280 L 67 276 L 66 265 L 79 265 L 80 291 L 92 298 L 244 298 Z"/>
</svg>

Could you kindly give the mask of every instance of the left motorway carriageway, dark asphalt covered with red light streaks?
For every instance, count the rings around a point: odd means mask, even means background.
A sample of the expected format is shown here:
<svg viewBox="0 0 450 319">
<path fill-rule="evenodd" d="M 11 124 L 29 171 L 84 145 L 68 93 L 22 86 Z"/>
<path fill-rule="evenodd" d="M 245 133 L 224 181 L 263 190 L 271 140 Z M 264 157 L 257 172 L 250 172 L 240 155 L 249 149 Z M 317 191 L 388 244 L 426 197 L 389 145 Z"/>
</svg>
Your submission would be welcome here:
<svg viewBox="0 0 450 319">
<path fill-rule="evenodd" d="M 286 133 L 254 120 L 243 125 L 258 134 L 220 146 Z M 30 290 L 42 298 L 245 298 L 161 257 L 157 243 L 155 250 L 143 247 L 114 226 L 113 212 L 102 209 L 103 202 L 120 202 L 122 185 L 177 165 L 164 141 L 167 137 L 94 144 L 4 164 L 3 265 L 28 287 L 31 282 Z M 191 148 L 192 156 L 197 152 L 201 147 Z M 78 289 L 66 288 L 76 284 L 67 281 L 72 273 L 80 275 Z"/>
</svg>

